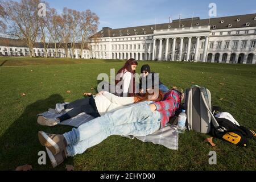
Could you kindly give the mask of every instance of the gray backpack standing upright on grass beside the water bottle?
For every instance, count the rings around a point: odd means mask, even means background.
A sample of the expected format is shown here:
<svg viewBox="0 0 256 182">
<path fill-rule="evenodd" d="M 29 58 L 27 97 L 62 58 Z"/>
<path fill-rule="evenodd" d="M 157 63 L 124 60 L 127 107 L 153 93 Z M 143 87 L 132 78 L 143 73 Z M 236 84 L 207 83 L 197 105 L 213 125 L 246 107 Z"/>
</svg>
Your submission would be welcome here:
<svg viewBox="0 0 256 182">
<path fill-rule="evenodd" d="M 222 130 L 212 114 L 212 100 L 207 88 L 193 85 L 185 92 L 187 128 L 199 133 L 209 133 L 211 126 Z M 212 121 L 212 125 L 211 125 Z"/>
</svg>

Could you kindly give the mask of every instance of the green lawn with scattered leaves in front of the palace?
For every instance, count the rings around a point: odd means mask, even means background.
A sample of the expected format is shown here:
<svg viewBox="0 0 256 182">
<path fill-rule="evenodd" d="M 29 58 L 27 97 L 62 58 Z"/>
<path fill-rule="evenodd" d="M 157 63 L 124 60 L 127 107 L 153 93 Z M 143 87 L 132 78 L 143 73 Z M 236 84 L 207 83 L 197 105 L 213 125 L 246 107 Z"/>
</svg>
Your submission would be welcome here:
<svg viewBox="0 0 256 182">
<path fill-rule="evenodd" d="M 167 86 L 188 88 L 206 86 L 213 105 L 231 113 L 242 126 L 256 130 L 256 65 L 177 63 L 141 61 L 160 73 Z M 36 114 L 55 107 L 57 102 L 71 102 L 92 92 L 98 73 L 110 74 L 121 68 L 119 60 L 73 60 L 0 58 L 0 170 L 14 170 L 24 164 L 33 170 L 52 170 L 39 166 L 39 130 L 64 133 L 68 126 L 44 127 L 36 123 Z M 220 85 L 223 83 L 224 85 Z M 67 93 L 70 90 L 71 93 Z M 21 96 L 25 93 L 26 96 Z M 222 100 L 220 100 L 222 99 Z M 204 139 L 209 135 L 186 131 L 179 136 L 179 150 L 169 150 L 137 139 L 112 136 L 89 148 L 84 154 L 69 158 L 55 170 L 71 164 L 75 170 L 255 170 L 255 139 L 246 148 L 213 139 L 211 147 Z M 209 151 L 217 152 L 217 165 L 208 164 Z"/>
</svg>

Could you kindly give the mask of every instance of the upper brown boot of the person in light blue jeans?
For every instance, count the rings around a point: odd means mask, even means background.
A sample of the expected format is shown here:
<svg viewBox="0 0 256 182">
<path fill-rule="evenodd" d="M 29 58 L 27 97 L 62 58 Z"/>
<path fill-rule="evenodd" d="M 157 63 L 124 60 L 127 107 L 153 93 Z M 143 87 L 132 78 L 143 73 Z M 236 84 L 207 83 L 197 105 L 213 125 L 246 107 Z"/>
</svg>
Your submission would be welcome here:
<svg viewBox="0 0 256 182">
<path fill-rule="evenodd" d="M 39 142 L 47 147 L 53 155 L 58 154 L 67 147 L 67 141 L 63 135 L 48 134 L 44 131 L 38 132 Z"/>
</svg>

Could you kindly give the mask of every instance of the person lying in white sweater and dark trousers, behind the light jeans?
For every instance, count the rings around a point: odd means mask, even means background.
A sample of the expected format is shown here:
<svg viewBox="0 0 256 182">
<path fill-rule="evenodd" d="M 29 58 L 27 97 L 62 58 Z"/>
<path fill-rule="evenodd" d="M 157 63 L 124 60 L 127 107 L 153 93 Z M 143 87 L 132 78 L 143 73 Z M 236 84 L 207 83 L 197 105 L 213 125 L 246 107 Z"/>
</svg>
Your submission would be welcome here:
<svg viewBox="0 0 256 182">
<path fill-rule="evenodd" d="M 43 126 L 55 126 L 58 123 L 75 117 L 80 113 L 86 113 L 92 115 L 94 118 L 100 117 L 105 113 L 120 109 L 121 107 L 129 106 L 137 102 L 152 100 L 152 101 L 161 101 L 163 100 L 163 93 L 159 94 L 149 94 L 145 96 L 134 96 L 134 97 L 118 97 L 112 93 L 102 91 L 96 94 L 95 97 L 86 97 L 81 100 L 71 102 L 69 104 L 56 104 L 56 113 L 61 113 L 65 109 L 72 109 L 67 113 L 61 115 L 57 118 L 46 118 L 42 115 L 38 117 L 39 125 Z"/>
</svg>

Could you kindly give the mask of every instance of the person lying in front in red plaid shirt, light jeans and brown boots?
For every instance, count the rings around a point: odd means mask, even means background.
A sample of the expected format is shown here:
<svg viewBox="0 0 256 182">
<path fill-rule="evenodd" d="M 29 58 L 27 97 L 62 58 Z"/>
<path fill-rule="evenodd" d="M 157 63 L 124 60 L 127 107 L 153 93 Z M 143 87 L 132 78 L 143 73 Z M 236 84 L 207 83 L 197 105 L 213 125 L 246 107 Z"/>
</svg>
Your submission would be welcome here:
<svg viewBox="0 0 256 182">
<path fill-rule="evenodd" d="M 179 108 L 183 94 L 170 90 L 163 101 L 143 101 L 106 113 L 63 135 L 38 132 L 39 142 L 46 147 L 52 167 L 63 163 L 68 156 L 82 154 L 87 148 L 101 143 L 111 135 L 150 135 L 166 126 Z"/>
</svg>

